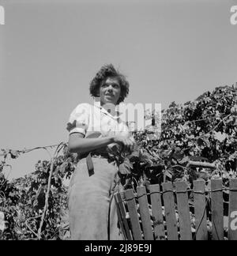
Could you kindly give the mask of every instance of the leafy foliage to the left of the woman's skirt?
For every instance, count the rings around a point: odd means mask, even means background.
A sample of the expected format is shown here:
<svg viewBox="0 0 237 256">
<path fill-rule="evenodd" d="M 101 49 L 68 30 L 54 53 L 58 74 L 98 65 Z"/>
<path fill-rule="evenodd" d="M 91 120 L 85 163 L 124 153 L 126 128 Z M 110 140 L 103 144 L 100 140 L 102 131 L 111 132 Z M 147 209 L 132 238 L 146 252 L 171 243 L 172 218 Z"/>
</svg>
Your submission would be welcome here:
<svg viewBox="0 0 237 256">
<path fill-rule="evenodd" d="M 70 236 L 67 188 L 63 181 L 72 174 L 75 157 L 66 153 L 66 146 L 64 151 L 53 162 L 51 190 L 40 239 L 66 239 Z M 6 229 L 0 231 L 0 239 L 38 239 L 50 170 L 51 163 L 44 160 L 38 161 L 36 171 L 31 175 L 10 183 L 1 175 L 0 212 L 5 214 Z"/>
</svg>

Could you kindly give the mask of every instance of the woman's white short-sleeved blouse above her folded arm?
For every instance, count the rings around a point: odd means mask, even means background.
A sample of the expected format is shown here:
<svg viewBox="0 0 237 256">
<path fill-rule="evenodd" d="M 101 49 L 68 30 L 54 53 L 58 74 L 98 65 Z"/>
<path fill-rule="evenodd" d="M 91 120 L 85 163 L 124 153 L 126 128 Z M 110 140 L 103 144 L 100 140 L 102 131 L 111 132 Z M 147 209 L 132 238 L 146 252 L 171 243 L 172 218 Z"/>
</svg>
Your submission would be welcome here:
<svg viewBox="0 0 237 256">
<path fill-rule="evenodd" d="M 70 114 L 66 129 L 70 134 L 81 133 L 85 137 L 94 132 L 100 132 L 103 137 L 111 135 L 130 137 L 130 130 L 121 116 L 119 112 L 111 115 L 100 106 L 79 104 Z"/>
</svg>

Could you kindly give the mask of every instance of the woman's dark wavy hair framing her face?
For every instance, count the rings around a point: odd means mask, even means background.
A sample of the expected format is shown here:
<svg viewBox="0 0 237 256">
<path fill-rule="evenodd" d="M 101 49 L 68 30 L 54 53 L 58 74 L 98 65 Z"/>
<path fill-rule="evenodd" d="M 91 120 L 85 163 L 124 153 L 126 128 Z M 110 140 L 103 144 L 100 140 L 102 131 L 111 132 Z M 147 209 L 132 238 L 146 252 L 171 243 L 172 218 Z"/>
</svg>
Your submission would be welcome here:
<svg viewBox="0 0 237 256">
<path fill-rule="evenodd" d="M 126 81 L 126 77 L 120 73 L 119 70 L 115 70 L 115 67 L 112 64 L 102 66 L 98 73 L 96 73 L 96 77 L 94 77 L 90 83 L 90 95 L 98 97 L 100 85 L 102 85 L 102 83 L 106 81 L 108 77 L 115 77 L 119 81 L 121 92 L 117 104 L 120 104 L 128 95 L 130 84 L 128 81 Z"/>
</svg>

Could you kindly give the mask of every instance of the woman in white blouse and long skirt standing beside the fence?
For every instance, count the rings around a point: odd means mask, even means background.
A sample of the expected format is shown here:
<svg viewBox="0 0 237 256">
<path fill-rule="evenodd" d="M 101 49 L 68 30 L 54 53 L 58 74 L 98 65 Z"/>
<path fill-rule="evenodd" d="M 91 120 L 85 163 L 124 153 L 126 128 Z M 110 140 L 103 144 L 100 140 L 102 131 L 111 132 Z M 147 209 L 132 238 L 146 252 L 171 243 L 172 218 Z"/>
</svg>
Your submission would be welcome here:
<svg viewBox="0 0 237 256">
<path fill-rule="evenodd" d="M 103 66 L 90 84 L 90 94 L 100 98 L 100 106 L 79 104 L 70 115 L 69 149 L 79 159 L 70 181 L 72 239 L 122 239 L 112 197 L 118 188 L 118 160 L 111 153 L 118 156 L 134 147 L 126 123 L 113 108 L 128 92 L 126 78 L 114 66 Z"/>
</svg>

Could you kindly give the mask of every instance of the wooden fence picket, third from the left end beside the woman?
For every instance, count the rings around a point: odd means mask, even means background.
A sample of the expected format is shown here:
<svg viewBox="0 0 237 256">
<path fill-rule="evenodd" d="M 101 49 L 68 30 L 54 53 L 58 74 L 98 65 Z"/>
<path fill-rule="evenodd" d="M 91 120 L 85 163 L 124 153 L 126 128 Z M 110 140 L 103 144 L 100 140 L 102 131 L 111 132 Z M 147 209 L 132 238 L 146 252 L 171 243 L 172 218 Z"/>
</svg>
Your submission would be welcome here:
<svg viewBox="0 0 237 256">
<path fill-rule="evenodd" d="M 152 223 L 149 213 L 149 204 L 147 200 L 147 194 L 145 186 L 137 186 L 137 198 L 139 203 L 139 209 L 141 214 L 141 224 L 144 232 L 145 240 L 153 240 Z"/>
</svg>

